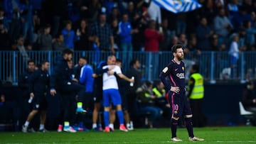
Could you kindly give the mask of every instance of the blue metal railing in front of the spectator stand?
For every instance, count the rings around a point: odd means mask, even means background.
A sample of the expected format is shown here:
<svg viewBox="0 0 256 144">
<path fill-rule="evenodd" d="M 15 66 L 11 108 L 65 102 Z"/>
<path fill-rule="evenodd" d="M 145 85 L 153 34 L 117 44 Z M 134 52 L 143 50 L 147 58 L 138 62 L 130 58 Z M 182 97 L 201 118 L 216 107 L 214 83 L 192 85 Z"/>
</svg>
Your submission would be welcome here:
<svg viewBox="0 0 256 144">
<path fill-rule="evenodd" d="M 39 63 L 41 60 L 50 61 L 50 72 L 54 68 L 54 61 L 59 51 L 28 51 L 28 57 Z M 81 56 L 88 57 L 92 67 L 100 60 L 106 60 L 110 52 L 75 51 L 73 61 L 76 64 Z M 129 68 L 129 61 L 137 58 L 142 63 L 143 79 L 158 79 L 159 72 L 172 59 L 171 52 L 117 52 L 117 58 L 122 60 L 122 70 Z M 206 82 L 215 83 L 226 80 L 245 82 L 246 79 L 256 79 L 256 52 L 241 52 L 236 67 L 230 67 L 228 52 L 191 52 L 185 55 L 186 79 L 189 77 L 189 68 L 194 63 L 200 66 L 200 72 Z M 17 84 L 18 76 L 26 70 L 26 58 L 18 51 L 0 51 L 0 79 L 4 82 Z"/>
</svg>

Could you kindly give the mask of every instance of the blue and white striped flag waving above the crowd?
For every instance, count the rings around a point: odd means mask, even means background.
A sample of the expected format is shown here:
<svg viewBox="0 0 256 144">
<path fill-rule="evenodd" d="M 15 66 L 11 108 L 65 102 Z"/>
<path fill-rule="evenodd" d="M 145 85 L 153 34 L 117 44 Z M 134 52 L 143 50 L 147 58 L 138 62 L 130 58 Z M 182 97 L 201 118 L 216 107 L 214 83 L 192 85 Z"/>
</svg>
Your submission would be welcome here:
<svg viewBox="0 0 256 144">
<path fill-rule="evenodd" d="M 173 13 L 193 11 L 201 7 L 196 0 L 153 0 L 154 3 Z"/>
</svg>

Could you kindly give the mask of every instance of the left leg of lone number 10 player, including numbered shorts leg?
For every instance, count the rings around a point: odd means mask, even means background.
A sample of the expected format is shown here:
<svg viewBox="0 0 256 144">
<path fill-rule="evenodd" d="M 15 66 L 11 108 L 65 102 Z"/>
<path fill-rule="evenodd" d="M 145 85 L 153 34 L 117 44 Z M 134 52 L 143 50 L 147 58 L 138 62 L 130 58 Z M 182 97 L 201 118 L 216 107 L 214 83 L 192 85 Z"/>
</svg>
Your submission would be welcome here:
<svg viewBox="0 0 256 144">
<path fill-rule="evenodd" d="M 181 117 L 181 98 L 174 92 L 169 92 L 168 101 L 171 105 L 171 140 L 182 141 L 176 135 L 178 119 Z"/>
</svg>

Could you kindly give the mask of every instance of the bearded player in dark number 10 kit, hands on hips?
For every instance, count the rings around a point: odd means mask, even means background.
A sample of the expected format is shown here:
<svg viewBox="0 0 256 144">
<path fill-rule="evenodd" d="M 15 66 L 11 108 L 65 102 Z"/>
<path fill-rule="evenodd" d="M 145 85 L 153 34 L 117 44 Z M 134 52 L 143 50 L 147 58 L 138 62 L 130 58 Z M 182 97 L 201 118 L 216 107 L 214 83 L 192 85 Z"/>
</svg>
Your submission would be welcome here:
<svg viewBox="0 0 256 144">
<path fill-rule="evenodd" d="M 171 51 L 174 59 L 164 67 L 159 75 L 166 92 L 168 92 L 169 104 L 171 104 L 171 141 L 182 141 L 176 135 L 178 119 L 181 116 L 184 117 L 186 123 L 188 140 L 203 141 L 203 138 L 197 138 L 193 135 L 192 112 L 185 94 L 185 65 L 181 61 L 184 58 L 182 45 L 174 45 Z M 166 77 L 169 77 L 170 82 L 167 82 Z"/>
</svg>

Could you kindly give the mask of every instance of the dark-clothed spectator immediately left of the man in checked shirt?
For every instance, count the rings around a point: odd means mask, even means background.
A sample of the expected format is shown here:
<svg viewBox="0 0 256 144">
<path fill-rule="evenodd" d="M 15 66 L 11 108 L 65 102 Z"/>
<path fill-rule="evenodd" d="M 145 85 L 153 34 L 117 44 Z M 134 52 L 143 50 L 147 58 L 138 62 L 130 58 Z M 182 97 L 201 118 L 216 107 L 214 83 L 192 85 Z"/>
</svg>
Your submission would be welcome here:
<svg viewBox="0 0 256 144">
<path fill-rule="evenodd" d="M 89 29 L 85 19 L 80 21 L 80 28 L 78 28 L 78 31 L 81 34 L 80 39 L 75 42 L 75 50 L 90 50 Z"/>
</svg>

